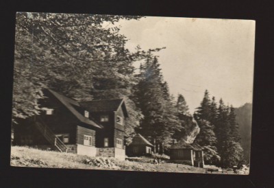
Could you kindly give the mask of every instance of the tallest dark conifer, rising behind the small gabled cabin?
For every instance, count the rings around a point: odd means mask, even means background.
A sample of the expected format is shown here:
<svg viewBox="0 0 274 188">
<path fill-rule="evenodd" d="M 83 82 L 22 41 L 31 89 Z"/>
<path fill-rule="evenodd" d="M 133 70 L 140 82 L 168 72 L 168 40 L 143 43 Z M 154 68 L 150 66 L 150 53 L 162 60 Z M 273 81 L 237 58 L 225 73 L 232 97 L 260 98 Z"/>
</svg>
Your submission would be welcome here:
<svg viewBox="0 0 274 188">
<path fill-rule="evenodd" d="M 162 78 L 158 58 L 147 58 L 141 68 L 136 96 L 144 119 L 140 121 L 137 132 L 155 139 L 163 150 L 163 146 L 169 145 L 171 136 L 179 128 L 175 108 L 168 84 Z"/>
</svg>

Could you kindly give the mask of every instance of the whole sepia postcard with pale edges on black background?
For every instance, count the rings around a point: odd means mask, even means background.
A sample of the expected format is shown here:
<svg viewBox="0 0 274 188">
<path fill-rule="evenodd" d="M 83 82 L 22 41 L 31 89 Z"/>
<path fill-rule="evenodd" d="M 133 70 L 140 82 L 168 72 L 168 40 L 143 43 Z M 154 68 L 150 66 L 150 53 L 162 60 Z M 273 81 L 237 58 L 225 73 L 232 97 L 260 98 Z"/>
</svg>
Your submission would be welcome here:
<svg viewBox="0 0 274 188">
<path fill-rule="evenodd" d="M 255 21 L 18 12 L 12 166 L 249 174 Z"/>
</svg>

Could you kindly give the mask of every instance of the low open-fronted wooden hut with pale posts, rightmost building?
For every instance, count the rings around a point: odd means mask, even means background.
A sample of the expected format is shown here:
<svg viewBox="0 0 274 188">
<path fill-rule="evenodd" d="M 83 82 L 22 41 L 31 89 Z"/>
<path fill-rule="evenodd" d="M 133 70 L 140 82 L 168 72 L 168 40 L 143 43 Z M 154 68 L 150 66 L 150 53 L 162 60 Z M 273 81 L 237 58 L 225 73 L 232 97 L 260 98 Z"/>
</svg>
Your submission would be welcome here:
<svg viewBox="0 0 274 188">
<path fill-rule="evenodd" d="M 203 167 L 203 150 L 197 144 L 184 142 L 173 143 L 169 148 L 172 161 L 186 163 L 195 167 Z"/>
</svg>

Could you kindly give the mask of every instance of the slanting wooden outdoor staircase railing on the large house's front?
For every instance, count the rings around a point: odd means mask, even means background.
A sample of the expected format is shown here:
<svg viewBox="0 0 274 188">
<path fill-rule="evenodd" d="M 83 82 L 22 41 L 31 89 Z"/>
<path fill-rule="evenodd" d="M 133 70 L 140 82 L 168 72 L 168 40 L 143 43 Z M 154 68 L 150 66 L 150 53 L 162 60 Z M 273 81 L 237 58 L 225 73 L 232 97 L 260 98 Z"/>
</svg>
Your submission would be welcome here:
<svg viewBox="0 0 274 188">
<path fill-rule="evenodd" d="M 55 134 L 40 117 L 36 117 L 35 126 L 43 134 L 45 139 L 51 143 L 51 145 L 54 145 L 60 152 L 67 152 L 68 148 L 66 148 L 66 145 L 64 145 L 64 143 L 55 136 Z"/>
</svg>

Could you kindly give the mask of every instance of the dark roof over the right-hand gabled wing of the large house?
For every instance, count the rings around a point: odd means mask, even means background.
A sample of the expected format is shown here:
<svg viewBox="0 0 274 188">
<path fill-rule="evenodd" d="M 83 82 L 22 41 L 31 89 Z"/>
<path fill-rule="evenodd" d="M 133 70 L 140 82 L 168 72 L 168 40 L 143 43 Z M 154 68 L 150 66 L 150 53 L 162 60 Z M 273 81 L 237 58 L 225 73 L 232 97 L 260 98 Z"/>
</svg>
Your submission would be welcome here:
<svg viewBox="0 0 274 188">
<path fill-rule="evenodd" d="M 123 99 L 94 100 L 88 102 L 80 102 L 79 104 L 81 104 L 81 106 L 84 106 L 84 108 L 92 113 L 114 112 L 118 110 L 120 106 L 122 106 L 125 117 L 128 117 L 127 109 L 125 108 L 125 102 Z"/>
</svg>

